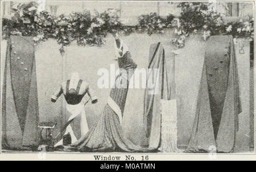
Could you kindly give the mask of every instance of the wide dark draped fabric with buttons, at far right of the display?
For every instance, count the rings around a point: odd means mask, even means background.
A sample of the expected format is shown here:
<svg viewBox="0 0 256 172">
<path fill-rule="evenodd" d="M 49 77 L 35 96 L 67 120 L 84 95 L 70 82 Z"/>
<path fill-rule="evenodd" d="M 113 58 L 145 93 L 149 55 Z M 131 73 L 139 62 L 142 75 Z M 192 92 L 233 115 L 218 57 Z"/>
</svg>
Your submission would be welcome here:
<svg viewBox="0 0 256 172">
<path fill-rule="evenodd" d="M 232 36 L 209 38 L 187 152 L 232 152 L 241 102 Z"/>
</svg>

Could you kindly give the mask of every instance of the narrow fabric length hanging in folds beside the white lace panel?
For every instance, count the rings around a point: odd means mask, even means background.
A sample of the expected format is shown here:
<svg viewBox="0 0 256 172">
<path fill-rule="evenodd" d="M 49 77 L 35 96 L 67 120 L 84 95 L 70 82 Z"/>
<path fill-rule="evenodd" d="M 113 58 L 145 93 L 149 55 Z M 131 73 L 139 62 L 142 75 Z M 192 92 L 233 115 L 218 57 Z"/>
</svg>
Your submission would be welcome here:
<svg viewBox="0 0 256 172">
<path fill-rule="evenodd" d="M 147 88 L 144 94 L 144 128 L 149 147 L 158 148 L 161 132 L 160 100 L 170 100 L 171 98 L 164 49 L 160 42 L 150 46 L 148 61 Z"/>
</svg>

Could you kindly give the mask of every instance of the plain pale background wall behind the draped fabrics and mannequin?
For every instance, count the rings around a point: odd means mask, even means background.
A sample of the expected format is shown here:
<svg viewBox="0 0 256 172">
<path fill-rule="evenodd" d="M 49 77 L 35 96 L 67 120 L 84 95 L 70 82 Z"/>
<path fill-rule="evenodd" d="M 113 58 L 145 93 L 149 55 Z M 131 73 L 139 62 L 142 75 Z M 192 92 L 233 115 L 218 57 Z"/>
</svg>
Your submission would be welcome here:
<svg viewBox="0 0 256 172">
<path fill-rule="evenodd" d="M 138 69 L 147 68 L 148 51 L 150 45 L 155 42 L 162 42 L 166 51 L 166 61 L 169 75 L 172 75 L 176 84 L 177 99 L 177 127 L 178 144 L 184 148 L 188 144 L 192 130 L 195 113 L 196 95 L 199 89 L 201 71 L 203 68 L 205 41 L 201 36 L 189 37 L 185 42 L 185 47 L 180 49 L 180 54 L 175 57 L 175 72 L 171 72 L 174 62 L 174 49 L 170 43 L 172 31 L 167 31 L 164 35 L 151 35 L 133 33 L 130 36 L 122 37 L 131 51 L 134 61 L 138 64 Z M 97 71 L 100 68 L 110 69 L 110 64 L 114 61 L 114 39 L 109 36 L 106 38 L 106 45 L 102 47 L 77 46 L 73 42 L 68 46 L 65 58 L 59 53 L 60 46 L 55 40 L 42 42 L 36 47 L 36 74 L 38 80 L 39 113 L 40 122 L 57 122 L 57 134 L 59 128 L 65 122 L 66 111 L 62 97 L 55 104 L 50 101 L 51 94 L 55 91 L 61 80 L 69 78 L 72 71 L 80 73 L 81 79 L 88 81 L 90 87 L 94 89 L 98 97 L 97 104 L 87 104 L 85 111 L 89 127 L 96 122 L 101 114 L 110 93 L 110 89 L 100 89 L 97 87 L 97 80 L 100 76 Z M 249 128 L 249 42 L 244 41 L 245 54 L 238 53 L 236 44 L 236 54 L 238 62 L 238 76 L 240 78 L 240 90 L 242 101 L 242 113 L 240 117 L 240 131 L 237 135 L 236 150 L 248 151 L 250 128 Z M 2 57 L 5 57 L 6 41 L 2 41 Z M 63 60 L 65 59 L 65 60 Z M 5 63 L 3 58 L 2 63 Z M 2 64 L 2 66 L 4 66 Z M 3 68 L 2 68 L 3 70 Z M 175 87 L 172 87 L 172 92 Z M 123 131 L 125 135 L 136 144 L 146 144 L 146 137 L 143 131 L 143 89 L 129 89 L 127 103 L 123 118 Z M 67 113 L 67 115 L 69 115 Z"/>
</svg>

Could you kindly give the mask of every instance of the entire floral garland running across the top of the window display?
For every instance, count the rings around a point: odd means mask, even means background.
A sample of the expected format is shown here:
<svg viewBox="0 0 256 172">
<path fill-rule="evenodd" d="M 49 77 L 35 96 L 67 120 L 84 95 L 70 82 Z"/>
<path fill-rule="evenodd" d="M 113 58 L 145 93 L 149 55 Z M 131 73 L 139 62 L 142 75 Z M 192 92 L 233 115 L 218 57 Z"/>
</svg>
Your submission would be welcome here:
<svg viewBox="0 0 256 172">
<path fill-rule="evenodd" d="M 175 28 L 173 15 L 166 18 L 150 13 L 141 15 L 135 26 L 123 25 L 117 15 L 108 12 L 91 15 L 89 11 L 73 12 L 69 16 L 53 16 L 47 11 L 38 12 L 37 3 L 19 5 L 14 16 L 2 20 L 2 37 L 10 35 L 33 36 L 35 45 L 48 38 L 55 38 L 61 45 L 60 53 L 64 54 L 64 46 L 77 41 L 77 45 L 101 46 L 105 45 L 108 33 L 117 31 L 124 35 L 133 32 L 164 33 L 164 29 Z M 185 38 L 193 33 L 202 32 L 203 39 L 211 35 L 233 35 L 233 37 L 254 38 L 253 20 L 246 22 L 224 23 L 222 16 L 214 11 L 212 3 L 181 2 L 179 23 L 175 28 L 176 36 L 171 39 L 176 49 L 185 45 Z"/>
</svg>

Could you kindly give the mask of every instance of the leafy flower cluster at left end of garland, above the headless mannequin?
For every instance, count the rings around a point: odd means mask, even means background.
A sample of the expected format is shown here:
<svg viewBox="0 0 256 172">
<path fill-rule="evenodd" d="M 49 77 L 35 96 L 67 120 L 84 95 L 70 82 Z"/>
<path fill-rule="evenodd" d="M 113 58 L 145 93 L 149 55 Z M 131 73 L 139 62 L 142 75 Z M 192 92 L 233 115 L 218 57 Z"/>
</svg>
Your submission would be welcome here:
<svg viewBox="0 0 256 172">
<path fill-rule="evenodd" d="M 22 11 L 22 12 L 20 12 Z M 38 12 L 36 3 L 20 5 L 10 19 L 3 19 L 2 36 L 33 36 L 35 44 L 48 38 L 55 38 L 61 45 L 60 53 L 64 54 L 64 46 L 76 40 L 78 45 L 101 46 L 105 44 L 108 33 L 122 28 L 117 16 L 108 12 L 91 15 L 89 11 L 73 12 L 65 16 L 53 16 L 47 11 Z"/>
</svg>

